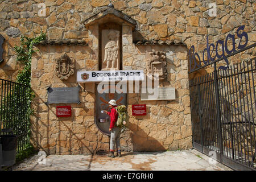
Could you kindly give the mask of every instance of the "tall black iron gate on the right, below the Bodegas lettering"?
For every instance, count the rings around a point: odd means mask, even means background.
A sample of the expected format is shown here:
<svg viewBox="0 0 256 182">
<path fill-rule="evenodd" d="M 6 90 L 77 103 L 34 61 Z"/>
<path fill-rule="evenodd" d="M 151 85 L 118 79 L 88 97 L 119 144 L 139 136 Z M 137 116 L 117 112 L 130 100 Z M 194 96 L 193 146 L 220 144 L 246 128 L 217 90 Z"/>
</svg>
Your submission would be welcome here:
<svg viewBox="0 0 256 182">
<path fill-rule="evenodd" d="M 256 58 L 189 80 L 193 147 L 234 169 L 256 169 Z"/>
</svg>

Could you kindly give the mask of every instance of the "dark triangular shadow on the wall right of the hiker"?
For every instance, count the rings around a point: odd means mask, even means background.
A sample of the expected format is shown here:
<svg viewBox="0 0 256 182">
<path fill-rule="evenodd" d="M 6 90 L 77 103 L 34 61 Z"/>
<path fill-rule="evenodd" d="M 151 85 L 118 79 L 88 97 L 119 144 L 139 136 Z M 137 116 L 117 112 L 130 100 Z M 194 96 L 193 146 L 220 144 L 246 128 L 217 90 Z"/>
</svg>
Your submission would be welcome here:
<svg viewBox="0 0 256 182">
<path fill-rule="evenodd" d="M 134 123 L 129 123 L 131 132 L 131 143 L 133 144 L 134 152 L 151 152 L 151 151 L 166 151 L 166 148 L 153 137 L 148 137 L 141 127 Z"/>
</svg>

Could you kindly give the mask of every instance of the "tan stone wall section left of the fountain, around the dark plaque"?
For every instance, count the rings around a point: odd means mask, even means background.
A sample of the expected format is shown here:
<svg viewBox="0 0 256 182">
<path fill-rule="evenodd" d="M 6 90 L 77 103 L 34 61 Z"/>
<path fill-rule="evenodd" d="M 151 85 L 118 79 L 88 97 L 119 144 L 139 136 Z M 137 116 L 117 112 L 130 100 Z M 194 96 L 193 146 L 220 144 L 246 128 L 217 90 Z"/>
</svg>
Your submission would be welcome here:
<svg viewBox="0 0 256 182">
<path fill-rule="evenodd" d="M 56 117 L 56 106 L 61 104 L 45 104 L 48 86 L 55 88 L 78 85 L 76 72 L 67 81 L 62 81 L 55 75 L 54 60 L 65 52 L 75 59 L 75 68 L 97 70 L 98 63 L 93 60 L 91 49 L 85 46 L 38 46 L 38 50 L 31 66 L 31 85 L 35 92 L 32 103 L 35 114 L 31 117 L 32 144 L 43 148 L 48 154 L 92 153 L 96 147 L 95 141 L 100 137 L 94 125 L 95 84 L 81 85 L 81 103 L 71 104 L 71 118 Z M 85 86 L 86 92 L 83 92 Z"/>
</svg>

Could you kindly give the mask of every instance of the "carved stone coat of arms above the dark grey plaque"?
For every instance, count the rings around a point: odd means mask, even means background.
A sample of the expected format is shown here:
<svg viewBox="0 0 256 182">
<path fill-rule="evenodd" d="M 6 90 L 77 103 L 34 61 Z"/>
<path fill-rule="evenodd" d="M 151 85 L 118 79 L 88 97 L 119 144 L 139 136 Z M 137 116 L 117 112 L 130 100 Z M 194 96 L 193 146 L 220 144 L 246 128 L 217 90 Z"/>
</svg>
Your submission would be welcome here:
<svg viewBox="0 0 256 182">
<path fill-rule="evenodd" d="M 74 74 L 75 64 L 70 57 L 64 53 L 59 59 L 55 59 L 55 75 L 60 80 L 67 80 L 69 76 Z"/>
</svg>

